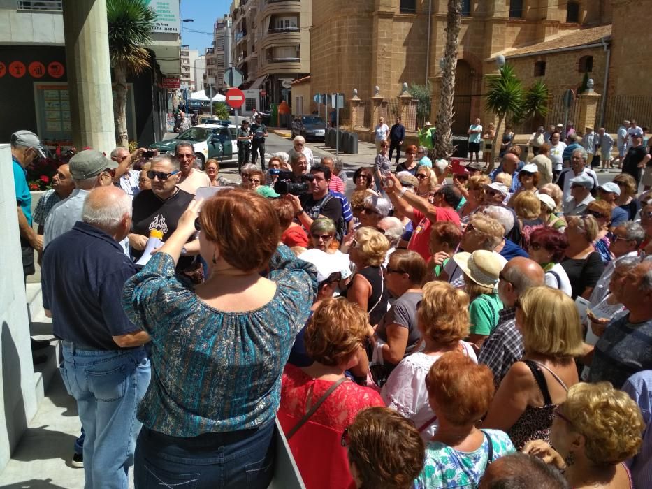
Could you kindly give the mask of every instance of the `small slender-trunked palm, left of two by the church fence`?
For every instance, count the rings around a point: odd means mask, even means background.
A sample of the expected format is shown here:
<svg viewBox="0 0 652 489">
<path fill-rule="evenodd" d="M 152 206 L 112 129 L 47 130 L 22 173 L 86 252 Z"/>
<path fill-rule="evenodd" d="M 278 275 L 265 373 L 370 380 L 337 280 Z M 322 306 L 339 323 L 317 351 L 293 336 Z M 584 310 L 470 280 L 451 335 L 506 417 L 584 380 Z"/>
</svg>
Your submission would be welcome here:
<svg viewBox="0 0 652 489">
<path fill-rule="evenodd" d="M 505 122 L 507 115 L 521 114 L 523 108 L 523 84 L 521 84 L 521 80 L 516 78 L 514 68 L 506 64 L 500 69 L 500 75 L 489 75 L 487 77 L 487 87 L 486 110 L 498 115 L 498 125 L 495 128 L 495 136 L 493 136 L 493 145 L 491 146 L 491 162 L 487 169 L 487 172 L 491 172 L 502 124 Z"/>
</svg>

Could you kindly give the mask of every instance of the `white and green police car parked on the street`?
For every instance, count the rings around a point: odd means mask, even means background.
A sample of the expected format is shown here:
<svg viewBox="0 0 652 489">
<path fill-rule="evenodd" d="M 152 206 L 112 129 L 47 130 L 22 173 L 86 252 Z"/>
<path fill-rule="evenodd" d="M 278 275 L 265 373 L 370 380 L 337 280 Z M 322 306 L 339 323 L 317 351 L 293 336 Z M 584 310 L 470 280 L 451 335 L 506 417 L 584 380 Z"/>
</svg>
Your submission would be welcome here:
<svg viewBox="0 0 652 489">
<path fill-rule="evenodd" d="M 198 124 L 180 133 L 176 138 L 157 141 L 150 149 L 159 153 L 174 153 L 175 147 L 182 141 L 191 143 L 199 168 L 204 169 L 209 158 L 229 161 L 238 159 L 236 126 L 229 121 L 221 124 Z"/>
</svg>

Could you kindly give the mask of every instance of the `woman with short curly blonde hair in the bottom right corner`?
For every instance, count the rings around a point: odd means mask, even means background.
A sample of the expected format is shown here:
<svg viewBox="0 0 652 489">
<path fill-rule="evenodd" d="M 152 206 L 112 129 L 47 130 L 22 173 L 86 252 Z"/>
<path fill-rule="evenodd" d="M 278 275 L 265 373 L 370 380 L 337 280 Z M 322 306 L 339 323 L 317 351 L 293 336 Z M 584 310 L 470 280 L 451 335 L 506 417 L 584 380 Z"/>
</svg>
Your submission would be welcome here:
<svg viewBox="0 0 652 489">
<path fill-rule="evenodd" d="M 572 488 L 633 488 L 625 460 L 642 444 L 641 410 L 609 382 L 575 384 L 555 411 L 551 444 L 530 441 L 525 453 L 563 470 Z"/>
</svg>

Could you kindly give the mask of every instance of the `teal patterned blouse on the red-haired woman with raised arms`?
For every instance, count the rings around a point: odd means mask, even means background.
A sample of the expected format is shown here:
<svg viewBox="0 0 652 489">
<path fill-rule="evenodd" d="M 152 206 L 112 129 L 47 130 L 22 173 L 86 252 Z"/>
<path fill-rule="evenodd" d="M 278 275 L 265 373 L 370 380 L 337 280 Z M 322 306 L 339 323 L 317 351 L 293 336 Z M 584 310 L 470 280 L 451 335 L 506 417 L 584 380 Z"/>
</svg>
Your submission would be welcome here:
<svg viewBox="0 0 652 489">
<path fill-rule="evenodd" d="M 317 291 L 314 266 L 280 245 L 268 278 L 274 298 L 251 312 L 220 312 L 157 253 L 124 286 L 122 305 L 152 337 L 152 381 L 138 420 L 173 437 L 247 430 L 273 421 L 294 338 Z M 310 286 L 312 285 L 312 286 Z"/>
</svg>

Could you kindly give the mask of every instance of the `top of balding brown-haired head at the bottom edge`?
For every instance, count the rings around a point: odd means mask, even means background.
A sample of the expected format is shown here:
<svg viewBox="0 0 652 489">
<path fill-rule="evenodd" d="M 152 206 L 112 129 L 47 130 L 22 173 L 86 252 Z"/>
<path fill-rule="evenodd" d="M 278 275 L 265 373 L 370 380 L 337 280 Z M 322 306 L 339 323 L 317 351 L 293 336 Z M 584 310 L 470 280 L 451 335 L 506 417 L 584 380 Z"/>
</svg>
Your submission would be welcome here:
<svg viewBox="0 0 652 489">
<path fill-rule="evenodd" d="M 567 489 L 564 476 L 543 460 L 512 453 L 494 460 L 484 471 L 479 489 Z"/>
</svg>

